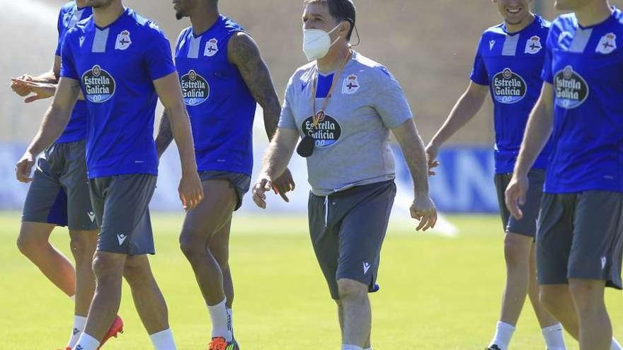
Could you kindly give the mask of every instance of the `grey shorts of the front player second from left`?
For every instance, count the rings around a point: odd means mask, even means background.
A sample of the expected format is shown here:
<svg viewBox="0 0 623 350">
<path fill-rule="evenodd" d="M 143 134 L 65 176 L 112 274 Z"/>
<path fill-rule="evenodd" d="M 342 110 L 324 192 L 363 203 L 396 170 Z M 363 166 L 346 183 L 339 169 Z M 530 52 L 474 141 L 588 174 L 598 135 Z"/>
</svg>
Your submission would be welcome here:
<svg viewBox="0 0 623 350">
<path fill-rule="evenodd" d="M 125 255 L 155 254 L 149 201 L 157 177 L 146 174 L 91 179 L 91 201 L 100 233 L 97 250 Z"/>
</svg>

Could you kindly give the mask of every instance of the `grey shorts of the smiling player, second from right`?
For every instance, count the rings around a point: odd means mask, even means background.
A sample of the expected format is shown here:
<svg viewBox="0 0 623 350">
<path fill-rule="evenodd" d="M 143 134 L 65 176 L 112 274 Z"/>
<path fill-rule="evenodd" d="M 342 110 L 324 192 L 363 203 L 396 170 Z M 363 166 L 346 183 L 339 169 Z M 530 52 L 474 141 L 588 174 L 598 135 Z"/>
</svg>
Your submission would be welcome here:
<svg viewBox="0 0 623 350">
<path fill-rule="evenodd" d="M 526 203 L 521 206 L 523 217 L 520 220 L 510 215 L 504 200 L 506 187 L 508 187 L 510 177 L 512 176 L 513 174 L 496 174 L 494 178 L 504 232 L 517 233 L 534 238 L 537 233 L 537 219 L 539 218 L 539 209 L 541 208 L 541 199 L 543 197 L 545 170 L 532 169 L 528 173 L 530 187 L 528 187 L 526 194 Z"/>
</svg>

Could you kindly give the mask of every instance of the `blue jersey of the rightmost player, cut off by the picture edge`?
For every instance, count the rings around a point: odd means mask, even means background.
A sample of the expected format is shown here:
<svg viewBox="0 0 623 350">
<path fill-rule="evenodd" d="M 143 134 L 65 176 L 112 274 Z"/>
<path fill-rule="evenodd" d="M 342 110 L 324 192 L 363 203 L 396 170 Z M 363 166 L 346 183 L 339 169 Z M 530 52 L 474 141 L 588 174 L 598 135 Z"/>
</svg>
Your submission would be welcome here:
<svg viewBox="0 0 623 350">
<path fill-rule="evenodd" d="M 588 28 L 552 23 L 543 80 L 554 89 L 554 150 L 545 192 L 623 192 L 623 15 Z"/>
</svg>

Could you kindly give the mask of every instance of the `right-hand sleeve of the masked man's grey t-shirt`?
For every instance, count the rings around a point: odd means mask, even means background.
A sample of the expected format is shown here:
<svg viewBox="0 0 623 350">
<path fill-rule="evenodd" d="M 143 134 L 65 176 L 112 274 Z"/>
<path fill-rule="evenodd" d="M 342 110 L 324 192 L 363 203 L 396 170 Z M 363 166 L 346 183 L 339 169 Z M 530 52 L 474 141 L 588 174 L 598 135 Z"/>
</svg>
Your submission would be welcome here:
<svg viewBox="0 0 623 350">
<path fill-rule="evenodd" d="M 379 70 L 380 91 L 375 93 L 372 107 L 379 113 L 385 127 L 393 129 L 413 118 L 413 112 L 396 78 L 385 67 L 379 67 Z"/>
</svg>

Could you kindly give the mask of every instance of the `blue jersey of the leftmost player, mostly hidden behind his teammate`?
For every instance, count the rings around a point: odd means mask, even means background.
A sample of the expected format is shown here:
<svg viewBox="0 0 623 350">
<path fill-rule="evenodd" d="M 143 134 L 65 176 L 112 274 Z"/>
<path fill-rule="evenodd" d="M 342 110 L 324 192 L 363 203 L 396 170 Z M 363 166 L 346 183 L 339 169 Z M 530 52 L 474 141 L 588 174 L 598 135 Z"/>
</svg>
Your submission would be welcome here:
<svg viewBox="0 0 623 350">
<path fill-rule="evenodd" d="M 72 28 L 79 21 L 84 20 L 91 16 L 93 11 L 91 7 L 78 8 L 76 1 L 69 1 L 64 4 L 59 13 L 58 19 L 58 45 L 56 47 L 56 55 L 61 56 L 61 46 L 64 40 L 67 30 Z M 69 119 L 69 124 L 65 128 L 63 134 L 59 137 L 57 142 L 59 144 L 76 142 L 86 139 L 86 103 L 84 101 L 77 101 L 72 111 L 72 119 Z"/>
</svg>

